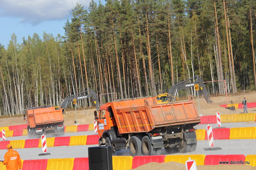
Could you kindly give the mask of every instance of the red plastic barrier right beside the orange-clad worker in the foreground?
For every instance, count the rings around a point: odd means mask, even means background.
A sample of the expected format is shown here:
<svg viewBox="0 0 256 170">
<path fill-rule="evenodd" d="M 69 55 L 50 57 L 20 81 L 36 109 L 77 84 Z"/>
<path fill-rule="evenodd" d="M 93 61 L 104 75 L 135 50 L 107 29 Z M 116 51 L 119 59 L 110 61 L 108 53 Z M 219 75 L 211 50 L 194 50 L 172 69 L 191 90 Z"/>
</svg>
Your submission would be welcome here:
<svg viewBox="0 0 256 170">
<path fill-rule="evenodd" d="M 46 170 L 48 159 L 24 160 L 22 170 Z"/>
</svg>

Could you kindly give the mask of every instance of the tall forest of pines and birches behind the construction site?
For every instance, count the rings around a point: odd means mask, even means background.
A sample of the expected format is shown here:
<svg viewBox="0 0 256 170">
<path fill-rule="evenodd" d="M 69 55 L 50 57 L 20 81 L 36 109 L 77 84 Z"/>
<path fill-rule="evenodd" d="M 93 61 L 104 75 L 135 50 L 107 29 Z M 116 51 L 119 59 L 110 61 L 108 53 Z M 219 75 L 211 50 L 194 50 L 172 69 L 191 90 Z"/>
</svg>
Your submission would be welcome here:
<svg viewBox="0 0 256 170">
<path fill-rule="evenodd" d="M 217 81 L 206 83 L 212 95 L 225 93 L 223 80 L 229 93 L 255 90 L 255 5 L 107 0 L 85 10 L 77 3 L 65 36 L 34 33 L 18 44 L 13 34 L 8 47 L 0 44 L 0 115 L 59 106 L 90 88 L 118 99 L 156 96 L 195 75 Z"/>
</svg>

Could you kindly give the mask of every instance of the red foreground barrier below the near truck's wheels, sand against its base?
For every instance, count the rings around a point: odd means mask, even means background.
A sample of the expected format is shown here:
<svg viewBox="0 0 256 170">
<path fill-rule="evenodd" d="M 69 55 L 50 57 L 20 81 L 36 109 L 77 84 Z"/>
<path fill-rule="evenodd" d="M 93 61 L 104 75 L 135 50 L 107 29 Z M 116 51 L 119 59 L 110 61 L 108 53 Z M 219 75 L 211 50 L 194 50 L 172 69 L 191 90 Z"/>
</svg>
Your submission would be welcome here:
<svg viewBox="0 0 256 170">
<path fill-rule="evenodd" d="M 164 162 L 165 155 L 154 156 L 134 156 L 132 159 L 132 169 L 150 162 L 162 163 Z"/>
</svg>

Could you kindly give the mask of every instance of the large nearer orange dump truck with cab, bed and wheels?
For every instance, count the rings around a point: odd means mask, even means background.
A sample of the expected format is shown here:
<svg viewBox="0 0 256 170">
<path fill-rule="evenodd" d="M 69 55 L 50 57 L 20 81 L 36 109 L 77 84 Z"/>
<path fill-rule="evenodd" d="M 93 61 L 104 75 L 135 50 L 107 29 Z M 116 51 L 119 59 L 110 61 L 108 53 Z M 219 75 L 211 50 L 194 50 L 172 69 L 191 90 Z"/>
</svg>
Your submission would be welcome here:
<svg viewBox="0 0 256 170">
<path fill-rule="evenodd" d="M 159 155 L 167 152 L 193 152 L 196 133 L 193 126 L 200 117 L 192 99 L 185 102 L 158 104 L 156 97 L 117 100 L 94 112 L 99 145 L 112 151 L 129 148 L 132 156 Z"/>
</svg>

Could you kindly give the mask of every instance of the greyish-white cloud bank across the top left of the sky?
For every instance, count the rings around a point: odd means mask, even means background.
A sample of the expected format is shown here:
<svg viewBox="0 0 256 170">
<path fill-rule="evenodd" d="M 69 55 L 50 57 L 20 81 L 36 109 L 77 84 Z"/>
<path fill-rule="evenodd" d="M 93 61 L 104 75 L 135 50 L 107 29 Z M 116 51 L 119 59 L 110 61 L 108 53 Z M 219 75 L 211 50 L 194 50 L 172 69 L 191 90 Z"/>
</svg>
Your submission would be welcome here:
<svg viewBox="0 0 256 170">
<path fill-rule="evenodd" d="M 76 3 L 88 8 L 91 0 L 0 0 L 0 16 L 19 18 L 37 25 L 43 21 L 65 19 Z"/>
</svg>

